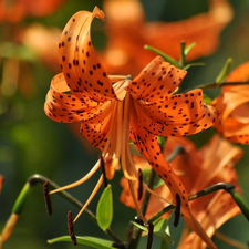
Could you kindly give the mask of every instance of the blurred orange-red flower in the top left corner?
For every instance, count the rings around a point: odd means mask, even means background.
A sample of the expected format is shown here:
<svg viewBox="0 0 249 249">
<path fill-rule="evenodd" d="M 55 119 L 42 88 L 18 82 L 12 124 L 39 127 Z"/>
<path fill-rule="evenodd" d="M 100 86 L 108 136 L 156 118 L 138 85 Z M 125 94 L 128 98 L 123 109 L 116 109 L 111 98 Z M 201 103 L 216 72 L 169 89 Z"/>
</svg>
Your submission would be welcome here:
<svg viewBox="0 0 249 249">
<path fill-rule="evenodd" d="M 19 22 L 27 15 L 43 17 L 52 13 L 64 0 L 0 1 L 0 22 Z"/>
</svg>

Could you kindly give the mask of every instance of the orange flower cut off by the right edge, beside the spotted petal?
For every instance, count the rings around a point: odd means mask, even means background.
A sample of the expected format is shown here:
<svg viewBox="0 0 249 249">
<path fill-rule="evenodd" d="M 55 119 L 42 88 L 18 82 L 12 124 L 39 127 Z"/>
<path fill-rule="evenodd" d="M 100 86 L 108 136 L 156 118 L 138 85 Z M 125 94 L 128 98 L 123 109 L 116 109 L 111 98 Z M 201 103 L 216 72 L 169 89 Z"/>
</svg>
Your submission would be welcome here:
<svg viewBox="0 0 249 249">
<path fill-rule="evenodd" d="M 235 69 L 226 82 L 249 80 L 249 62 Z M 249 85 L 226 85 L 212 102 L 218 118 L 215 128 L 234 143 L 249 144 Z"/>
</svg>

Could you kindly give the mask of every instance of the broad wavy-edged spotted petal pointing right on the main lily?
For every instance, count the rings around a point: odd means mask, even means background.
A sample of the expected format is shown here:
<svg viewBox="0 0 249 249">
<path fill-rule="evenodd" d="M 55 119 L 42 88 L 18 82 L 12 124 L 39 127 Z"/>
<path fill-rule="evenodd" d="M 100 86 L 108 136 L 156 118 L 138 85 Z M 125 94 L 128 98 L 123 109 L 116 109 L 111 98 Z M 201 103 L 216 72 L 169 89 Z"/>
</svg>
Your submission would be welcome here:
<svg viewBox="0 0 249 249">
<path fill-rule="evenodd" d="M 153 104 L 136 104 L 139 122 L 153 134 L 187 136 L 214 125 L 216 111 L 203 102 L 201 90 L 176 94 Z"/>
</svg>

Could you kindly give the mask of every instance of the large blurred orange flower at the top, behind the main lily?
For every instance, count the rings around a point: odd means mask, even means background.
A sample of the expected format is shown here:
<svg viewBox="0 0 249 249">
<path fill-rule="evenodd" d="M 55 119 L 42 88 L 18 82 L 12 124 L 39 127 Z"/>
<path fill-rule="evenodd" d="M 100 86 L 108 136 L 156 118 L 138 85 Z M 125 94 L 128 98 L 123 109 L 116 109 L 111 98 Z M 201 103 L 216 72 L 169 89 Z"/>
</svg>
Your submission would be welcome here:
<svg viewBox="0 0 249 249">
<path fill-rule="evenodd" d="M 219 45 L 219 34 L 230 22 L 234 12 L 227 0 L 210 0 L 209 12 L 177 22 L 146 22 L 138 0 L 105 0 L 107 46 L 101 61 L 111 73 L 137 74 L 154 53 L 144 50 L 148 44 L 178 60 L 180 42 L 196 42 L 188 54 L 191 61 L 212 53 Z"/>
</svg>

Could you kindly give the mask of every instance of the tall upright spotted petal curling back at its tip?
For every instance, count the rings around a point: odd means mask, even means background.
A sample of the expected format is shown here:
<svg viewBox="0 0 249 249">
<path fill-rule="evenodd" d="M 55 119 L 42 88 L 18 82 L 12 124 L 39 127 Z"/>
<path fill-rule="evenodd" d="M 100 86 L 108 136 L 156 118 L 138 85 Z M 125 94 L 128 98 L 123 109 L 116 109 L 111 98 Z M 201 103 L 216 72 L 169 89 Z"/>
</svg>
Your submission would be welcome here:
<svg viewBox="0 0 249 249">
<path fill-rule="evenodd" d="M 104 19 L 95 7 L 93 12 L 80 11 L 65 25 L 59 43 L 60 63 L 72 93 L 104 102 L 116 98 L 112 83 L 101 65 L 91 41 L 94 17 Z"/>
</svg>

